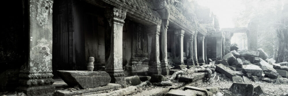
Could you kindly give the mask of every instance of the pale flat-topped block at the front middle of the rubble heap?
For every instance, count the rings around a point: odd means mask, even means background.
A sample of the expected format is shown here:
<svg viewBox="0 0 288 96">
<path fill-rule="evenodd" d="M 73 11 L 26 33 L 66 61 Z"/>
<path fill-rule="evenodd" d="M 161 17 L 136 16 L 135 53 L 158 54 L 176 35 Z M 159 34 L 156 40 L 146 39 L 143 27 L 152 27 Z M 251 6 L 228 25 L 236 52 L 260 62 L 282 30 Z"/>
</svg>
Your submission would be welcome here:
<svg viewBox="0 0 288 96">
<path fill-rule="evenodd" d="M 255 76 L 261 76 L 263 72 L 263 70 L 259 66 L 256 66 L 256 65 L 243 65 L 242 70 L 244 73 L 249 72 Z"/>
</svg>

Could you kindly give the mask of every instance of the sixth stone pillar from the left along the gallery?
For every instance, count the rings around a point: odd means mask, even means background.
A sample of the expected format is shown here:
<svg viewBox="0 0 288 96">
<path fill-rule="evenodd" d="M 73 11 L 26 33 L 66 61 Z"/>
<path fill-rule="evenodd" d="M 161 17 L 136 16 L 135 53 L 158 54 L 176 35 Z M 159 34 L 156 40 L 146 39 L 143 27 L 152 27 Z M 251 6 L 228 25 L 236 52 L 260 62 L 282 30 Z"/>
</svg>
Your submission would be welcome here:
<svg viewBox="0 0 288 96">
<path fill-rule="evenodd" d="M 187 55 L 187 65 L 193 65 L 194 64 L 194 60 L 193 60 L 193 41 L 194 41 L 194 36 L 191 35 L 188 37 L 188 39 L 186 39 L 187 41 L 187 51 L 186 51 L 186 55 Z"/>
</svg>

